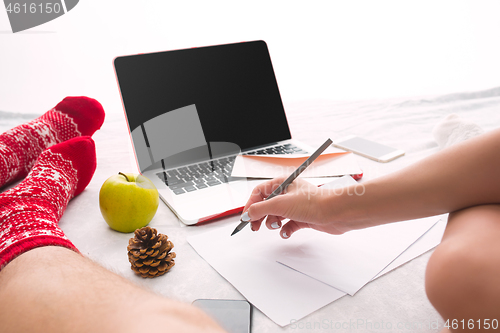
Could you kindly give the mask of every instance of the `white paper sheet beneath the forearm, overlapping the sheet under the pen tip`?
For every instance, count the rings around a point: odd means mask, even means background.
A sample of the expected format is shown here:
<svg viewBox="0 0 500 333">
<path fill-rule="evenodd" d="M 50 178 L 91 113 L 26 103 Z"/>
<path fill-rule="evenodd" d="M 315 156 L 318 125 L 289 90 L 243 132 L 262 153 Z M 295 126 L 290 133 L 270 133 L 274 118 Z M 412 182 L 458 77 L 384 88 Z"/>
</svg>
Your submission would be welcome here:
<svg viewBox="0 0 500 333">
<path fill-rule="evenodd" d="M 436 217 L 403 221 L 343 235 L 308 229 L 301 232 L 299 244 L 287 244 L 275 258 L 290 268 L 354 295 L 437 221 Z"/>
</svg>

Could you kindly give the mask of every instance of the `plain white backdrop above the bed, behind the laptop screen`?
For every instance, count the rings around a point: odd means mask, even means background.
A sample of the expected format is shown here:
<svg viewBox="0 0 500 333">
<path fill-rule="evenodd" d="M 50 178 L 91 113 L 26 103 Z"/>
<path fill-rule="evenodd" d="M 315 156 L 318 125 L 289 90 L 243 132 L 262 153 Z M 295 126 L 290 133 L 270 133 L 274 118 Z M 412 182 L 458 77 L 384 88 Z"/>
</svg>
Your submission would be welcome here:
<svg viewBox="0 0 500 333">
<path fill-rule="evenodd" d="M 285 102 L 500 85 L 499 1 L 81 0 L 12 34 L 0 9 L 0 110 L 42 113 L 68 95 L 122 112 L 115 56 L 263 39 Z"/>
</svg>

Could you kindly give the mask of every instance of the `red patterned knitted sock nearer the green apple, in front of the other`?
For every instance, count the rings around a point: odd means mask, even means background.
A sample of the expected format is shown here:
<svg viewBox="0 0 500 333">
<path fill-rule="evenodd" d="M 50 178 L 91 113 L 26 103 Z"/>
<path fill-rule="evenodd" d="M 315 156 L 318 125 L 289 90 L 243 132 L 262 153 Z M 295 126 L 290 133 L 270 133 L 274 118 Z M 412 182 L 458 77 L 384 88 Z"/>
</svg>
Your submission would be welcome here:
<svg viewBox="0 0 500 333">
<path fill-rule="evenodd" d="M 88 185 L 95 168 L 92 138 L 73 138 L 45 150 L 25 180 L 0 194 L 0 269 L 39 246 L 78 251 L 57 224 L 69 200 Z"/>
</svg>

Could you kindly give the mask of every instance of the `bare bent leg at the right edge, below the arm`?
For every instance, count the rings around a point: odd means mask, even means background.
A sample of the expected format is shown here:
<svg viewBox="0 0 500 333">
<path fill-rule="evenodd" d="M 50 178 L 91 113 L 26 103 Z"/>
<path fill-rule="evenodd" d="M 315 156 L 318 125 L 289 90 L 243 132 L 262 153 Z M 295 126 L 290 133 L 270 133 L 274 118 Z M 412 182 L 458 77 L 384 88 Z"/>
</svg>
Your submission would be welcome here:
<svg viewBox="0 0 500 333">
<path fill-rule="evenodd" d="M 482 205 L 450 214 L 443 241 L 426 271 L 429 300 L 458 329 L 478 331 L 484 320 L 500 320 L 500 205 Z M 469 320 L 474 328 L 467 327 Z"/>
</svg>

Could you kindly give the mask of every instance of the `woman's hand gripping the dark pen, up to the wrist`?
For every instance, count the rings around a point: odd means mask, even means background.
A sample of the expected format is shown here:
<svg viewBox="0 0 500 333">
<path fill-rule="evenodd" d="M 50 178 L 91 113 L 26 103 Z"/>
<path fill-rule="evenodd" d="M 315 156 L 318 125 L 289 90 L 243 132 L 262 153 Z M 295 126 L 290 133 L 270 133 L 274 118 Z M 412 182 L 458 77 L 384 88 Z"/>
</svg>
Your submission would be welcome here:
<svg viewBox="0 0 500 333">
<path fill-rule="evenodd" d="M 286 191 L 272 199 L 265 200 L 285 178 L 275 178 L 257 186 L 248 200 L 244 212 L 252 220 L 252 230 L 260 229 L 267 216 L 266 226 L 269 229 L 281 228 L 280 235 L 289 238 L 302 228 L 312 228 L 330 234 L 339 235 L 349 229 L 340 222 L 333 222 L 330 201 L 334 198 L 326 189 L 317 187 L 301 178 L 297 178 Z M 283 220 L 290 219 L 282 226 Z"/>
</svg>

